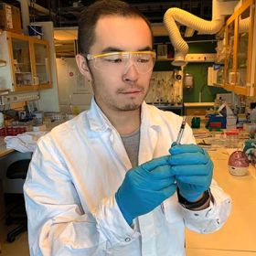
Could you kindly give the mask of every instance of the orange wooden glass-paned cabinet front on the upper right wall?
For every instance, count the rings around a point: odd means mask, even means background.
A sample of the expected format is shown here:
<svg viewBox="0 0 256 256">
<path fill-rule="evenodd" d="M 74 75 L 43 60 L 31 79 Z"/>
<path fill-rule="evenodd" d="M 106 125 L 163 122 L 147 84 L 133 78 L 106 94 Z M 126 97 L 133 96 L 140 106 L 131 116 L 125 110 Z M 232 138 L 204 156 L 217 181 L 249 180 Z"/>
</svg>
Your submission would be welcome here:
<svg viewBox="0 0 256 256">
<path fill-rule="evenodd" d="M 229 17 L 226 26 L 226 61 L 224 88 L 251 96 L 251 49 L 253 40 L 254 1 L 243 5 Z"/>
</svg>

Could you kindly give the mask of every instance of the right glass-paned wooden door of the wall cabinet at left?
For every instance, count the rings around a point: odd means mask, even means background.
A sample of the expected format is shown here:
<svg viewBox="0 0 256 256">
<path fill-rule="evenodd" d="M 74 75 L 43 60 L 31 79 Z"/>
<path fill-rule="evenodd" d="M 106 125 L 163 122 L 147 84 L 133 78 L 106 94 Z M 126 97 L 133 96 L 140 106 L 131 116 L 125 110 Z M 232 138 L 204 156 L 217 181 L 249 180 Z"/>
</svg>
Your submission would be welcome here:
<svg viewBox="0 0 256 256">
<path fill-rule="evenodd" d="M 33 43 L 34 48 L 34 69 L 37 81 L 37 89 L 48 88 L 51 86 L 48 43 L 45 41 L 37 41 Z"/>
</svg>

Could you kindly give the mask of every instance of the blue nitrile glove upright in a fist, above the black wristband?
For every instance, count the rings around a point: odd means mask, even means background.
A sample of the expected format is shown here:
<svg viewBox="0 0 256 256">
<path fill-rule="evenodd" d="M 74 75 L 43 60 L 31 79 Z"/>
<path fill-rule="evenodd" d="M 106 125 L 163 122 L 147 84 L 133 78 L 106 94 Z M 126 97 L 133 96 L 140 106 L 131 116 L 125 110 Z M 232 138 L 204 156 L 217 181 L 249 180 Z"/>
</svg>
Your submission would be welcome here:
<svg viewBox="0 0 256 256">
<path fill-rule="evenodd" d="M 189 202 L 196 201 L 211 183 L 213 164 L 208 153 L 196 144 L 172 144 L 169 152 L 179 193 Z"/>
</svg>

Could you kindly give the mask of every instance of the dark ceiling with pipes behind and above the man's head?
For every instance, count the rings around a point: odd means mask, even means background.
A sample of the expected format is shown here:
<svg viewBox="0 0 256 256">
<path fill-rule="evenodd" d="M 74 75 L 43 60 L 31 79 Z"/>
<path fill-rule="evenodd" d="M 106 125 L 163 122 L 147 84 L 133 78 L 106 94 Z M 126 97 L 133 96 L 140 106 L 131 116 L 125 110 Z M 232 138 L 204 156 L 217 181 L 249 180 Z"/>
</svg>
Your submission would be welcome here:
<svg viewBox="0 0 256 256">
<path fill-rule="evenodd" d="M 54 27 L 76 27 L 81 10 L 95 2 L 92 0 L 34 0 L 37 5 L 45 7 L 49 12 L 42 12 L 37 8 L 30 8 L 30 19 L 34 21 L 52 20 Z M 212 0 L 190 1 L 125 1 L 140 10 L 152 23 L 162 23 L 165 11 L 170 7 L 187 10 L 204 19 L 211 19 Z M 31 0 L 33 4 L 33 0 Z"/>
</svg>

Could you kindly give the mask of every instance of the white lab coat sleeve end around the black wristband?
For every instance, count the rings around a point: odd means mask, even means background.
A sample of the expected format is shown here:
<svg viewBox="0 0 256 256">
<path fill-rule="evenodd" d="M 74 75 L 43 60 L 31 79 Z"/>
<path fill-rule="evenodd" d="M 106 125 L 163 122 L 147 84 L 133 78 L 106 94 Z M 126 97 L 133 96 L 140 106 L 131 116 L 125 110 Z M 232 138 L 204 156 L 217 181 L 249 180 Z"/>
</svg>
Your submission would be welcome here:
<svg viewBox="0 0 256 256">
<path fill-rule="evenodd" d="M 211 194 L 213 202 L 203 210 L 188 210 L 181 208 L 181 212 L 188 229 L 198 233 L 211 233 L 219 230 L 229 218 L 231 211 L 231 198 L 212 180 Z"/>
</svg>

